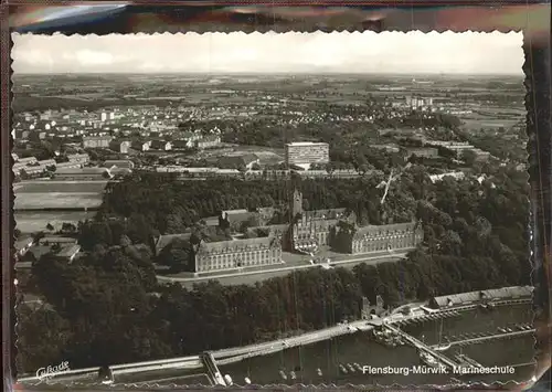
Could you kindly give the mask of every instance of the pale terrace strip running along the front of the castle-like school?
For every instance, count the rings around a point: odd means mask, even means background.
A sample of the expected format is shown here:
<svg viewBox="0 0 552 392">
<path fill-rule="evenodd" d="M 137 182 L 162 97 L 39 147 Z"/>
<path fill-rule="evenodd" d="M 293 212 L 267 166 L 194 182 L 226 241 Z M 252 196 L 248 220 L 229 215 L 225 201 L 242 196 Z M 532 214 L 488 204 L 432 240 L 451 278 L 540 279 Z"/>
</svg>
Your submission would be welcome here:
<svg viewBox="0 0 552 392">
<path fill-rule="evenodd" d="M 386 253 L 380 254 L 376 256 L 373 255 L 362 255 L 362 256 L 351 256 L 347 259 L 335 261 L 331 264 L 336 267 L 344 267 L 352 268 L 355 265 L 365 263 L 365 264 L 380 264 L 380 263 L 389 263 L 396 262 L 401 258 L 404 258 L 406 253 Z M 194 284 L 208 282 L 208 280 L 219 280 L 222 285 L 232 286 L 232 285 L 252 285 L 256 282 L 266 280 L 277 276 L 285 276 L 293 271 L 307 269 L 307 268 L 320 268 L 320 265 L 311 265 L 311 264 L 302 264 L 302 265 L 294 265 L 282 267 L 270 268 L 270 269 L 258 269 L 243 274 L 227 274 L 227 275 L 217 275 L 217 276 L 205 276 L 205 277 L 173 277 L 173 276 L 162 276 L 158 275 L 157 279 L 160 283 L 180 283 L 182 286 L 187 288 L 192 288 Z"/>
</svg>

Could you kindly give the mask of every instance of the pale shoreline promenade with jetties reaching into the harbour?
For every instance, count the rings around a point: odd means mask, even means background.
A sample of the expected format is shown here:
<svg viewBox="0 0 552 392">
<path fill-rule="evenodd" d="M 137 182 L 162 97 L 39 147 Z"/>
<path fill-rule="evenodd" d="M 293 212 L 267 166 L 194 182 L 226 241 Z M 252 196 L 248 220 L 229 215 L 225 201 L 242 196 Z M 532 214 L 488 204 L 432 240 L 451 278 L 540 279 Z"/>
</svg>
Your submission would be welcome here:
<svg viewBox="0 0 552 392">
<path fill-rule="evenodd" d="M 508 299 L 498 299 L 493 300 L 492 304 L 495 306 L 511 306 L 519 304 L 531 304 L 531 298 L 508 298 Z M 417 310 L 414 310 L 410 315 L 399 316 L 391 315 L 385 318 L 374 318 L 369 320 L 358 320 L 348 324 L 341 324 L 337 326 L 331 326 L 329 328 L 315 330 L 310 332 L 306 332 L 299 336 L 289 337 L 286 339 L 277 339 L 268 342 L 259 342 L 253 343 L 245 347 L 233 347 L 221 349 L 216 351 L 205 352 L 199 356 L 189 356 L 189 357 L 180 357 L 172 359 L 161 359 L 153 361 L 145 361 L 138 363 L 123 363 L 123 364 L 114 364 L 110 365 L 110 370 L 114 373 L 115 379 L 118 375 L 129 375 L 129 374 L 144 374 L 145 372 L 173 372 L 178 369 L 185 369 L 187 371 L 197 370 L 199 373 L 208 373 L 208 378 L 213 382 L 213 384 L 225 385 L 226 382 L 223 379 L 222 374 L 220 374 L 219 365 L 229 364 L 238 362 L 241 360 L 259 357 L 265 354 L 270 354 L 278 351 L 284 351 L 286 349 L 304 346 L 309 343 L 315 343 L 318 341 L 331 339 L 338 336 L 352 333 L 355 330 L 367 331 L 372 328 L 388 328 L 392 331 L 400 333 L 403 339 L 410 345 L 418 348 L 420 350 L 424 350 L 429 354 L 434 356 L 438 361 L 447 367 L 455 367 L 456 363 L 449 358 L 443 356 L 442 352 L 435 350 L 438 346 L 427 346 L 422 341 L 415 339 L 414 337 L 405 333 L 399 327 L 405 324 L 411 322 L 423 322 L 429 321 L 433 319 L 455 317 L 461 315 L 464 311 L 469 311 L 480 307 L 480 304 L 463 304 L 453 307 L 443 307 L 439 309 L 432 309 L 429 307 L 423 306 L 418 307 Z M 509 337 L 518 337 L 523 335 L 534 333 L 534 329 L 528 329 L 523 331 L 512 331 L 508 333 L 501 335 L 489 335 L 489 336 L 479 336 L 470 337 L 470 338 L 460 338 L 456 341 L 447 342 L 452 346 L 465 346 L 478 342 L 485 342 L 486 340 L 491 339 L 502 339 Z M 475 335 L 475 333 L 471 333 Z M 443 345 L 440 345 L 443 346 Z M 95 380 L 98 374 L 98 368 L 87 368 L 87 369 L 75 369 L 68 370 L 64 373 L 56 374 L 53 379 L 56 382 L 75 382 L 83 380 Z M 181 378 L 181 377 L 179 377 Z M 156 379 L 161 379 L 161 377 L 156 374 Z M 19 382 L 22 383 L 40 383 L 41 379 L 35 374 L 28 374 L 26 377 L 22 377 L 19 379 Z"/>
</svg>

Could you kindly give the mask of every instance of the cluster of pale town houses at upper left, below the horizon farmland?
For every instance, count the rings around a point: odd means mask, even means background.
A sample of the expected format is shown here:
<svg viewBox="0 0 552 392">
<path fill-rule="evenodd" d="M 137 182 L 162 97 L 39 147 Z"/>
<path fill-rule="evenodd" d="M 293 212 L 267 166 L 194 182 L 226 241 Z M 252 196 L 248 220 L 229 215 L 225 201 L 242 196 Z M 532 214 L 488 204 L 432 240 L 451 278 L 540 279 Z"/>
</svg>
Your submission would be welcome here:
<svg viewBox="0 0 552 392">
<path fill-rule="evenodd" d="M 221 144 L 221 130 L 181 133 L 178 121 L 183 118 L 177 109 L 164 110 L 140 106 L 97 113 L 46 110 L 15 116 L 12 135 L 18 142 L 49 139 L 81 140 L 84 148 L 109 148 L 120 153 L 171 149 L 208 149 Z M 138 135 L 138 136 L 137 136 Z M 164 140 L 174 136 L 174 141 Z"/>
</svg>

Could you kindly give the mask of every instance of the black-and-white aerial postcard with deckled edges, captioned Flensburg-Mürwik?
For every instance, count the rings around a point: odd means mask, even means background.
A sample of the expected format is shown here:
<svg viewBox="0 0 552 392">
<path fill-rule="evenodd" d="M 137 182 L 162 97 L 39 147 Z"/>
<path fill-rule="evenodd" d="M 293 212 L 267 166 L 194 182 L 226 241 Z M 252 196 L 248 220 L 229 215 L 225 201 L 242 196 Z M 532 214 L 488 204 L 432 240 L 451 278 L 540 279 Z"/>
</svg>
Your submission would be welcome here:
<svg viewBox="0 0 552 392">
<path fill-rule="evenodd" d="M 23 388 L 533 375 L 521 33 L 12 39 Z"/>
</svg>

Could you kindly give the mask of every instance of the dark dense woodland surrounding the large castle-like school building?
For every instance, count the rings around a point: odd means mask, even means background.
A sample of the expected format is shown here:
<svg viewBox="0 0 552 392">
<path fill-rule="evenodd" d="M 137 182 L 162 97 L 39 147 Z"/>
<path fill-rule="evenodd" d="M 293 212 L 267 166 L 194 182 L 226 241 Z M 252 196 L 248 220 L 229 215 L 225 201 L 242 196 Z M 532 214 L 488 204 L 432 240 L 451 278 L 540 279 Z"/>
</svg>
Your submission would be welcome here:
<svg viewBox="0 0 552 392">
<path fill-rule="evenodd" d="M 294 179 L 293 181 L 297 181 Z M 363 223 L 417 218 L 425 243 L 399 263 L 353 271 L 314 268 L 254 286 L 210 282 L 193 290 L 159 285 L 152 236 L 179 233 L 222 209 L 285 205 L 293 182 L 198 181 L 170 176 L 109 186 L 96 220 L 78 226 L 87 251 L 72 264 L 43 256 L 25 292 L 44 305 L 18 307 L 20 371 L 193 354 L 322 328 L 360 316 L 362 296 L 389 305 L 466 290 L 529 284 L 528 183 L 498 167 L 478 181 L 432 183 L 412 167 L 379 208 L 379 178 L 306 180 L 311 209 L 346 206 Z M 224 234 L 224 233 L 222 233 Z"/>
</svg>

